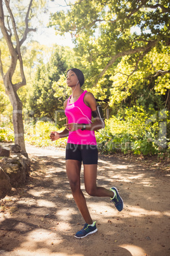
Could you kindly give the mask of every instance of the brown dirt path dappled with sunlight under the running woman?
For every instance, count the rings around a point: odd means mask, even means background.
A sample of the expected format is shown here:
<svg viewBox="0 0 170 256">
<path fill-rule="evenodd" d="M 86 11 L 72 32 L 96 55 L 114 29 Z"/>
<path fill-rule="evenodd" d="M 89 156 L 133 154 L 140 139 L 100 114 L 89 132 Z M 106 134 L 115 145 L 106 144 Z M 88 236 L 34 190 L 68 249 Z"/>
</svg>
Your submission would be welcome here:
<svg viewBox="0 0 170 256">
<path fill-rule="evenodd" d="M 117 187 L 124 210 L 84 192 L 98 232 L 76 239 L 84 221 L 72 199 L 64 152 L 36 153 L 30 147 L 29 157 L 27 184 L 0 201 L 0 255 L 170 255 L 170 173 L 100 157 L 98 185 Z"/>
</svg>

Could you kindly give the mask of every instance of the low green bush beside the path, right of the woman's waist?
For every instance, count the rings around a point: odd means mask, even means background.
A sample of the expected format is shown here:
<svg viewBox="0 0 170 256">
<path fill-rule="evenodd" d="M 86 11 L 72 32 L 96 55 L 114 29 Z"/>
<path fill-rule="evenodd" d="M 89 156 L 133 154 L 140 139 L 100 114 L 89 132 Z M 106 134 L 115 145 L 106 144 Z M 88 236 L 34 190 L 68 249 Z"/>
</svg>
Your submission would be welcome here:
<svg viewBox="0 0 170 256">
<path fill-rule="evenodd" d="M 167 111 L 162 112 L 168 115 Z M 143 107 L 126 108 L 117 117 L 106 120 L 103 132 L 96 132 L 99 150 L 103 153 L 134 153 L 135 155 L 154 155 L 169 146 L 170 134 L 166 128 L 161 113 L 146 112 Z M 167 145 L 167 148 L 165 147 Z"/>
</svg>

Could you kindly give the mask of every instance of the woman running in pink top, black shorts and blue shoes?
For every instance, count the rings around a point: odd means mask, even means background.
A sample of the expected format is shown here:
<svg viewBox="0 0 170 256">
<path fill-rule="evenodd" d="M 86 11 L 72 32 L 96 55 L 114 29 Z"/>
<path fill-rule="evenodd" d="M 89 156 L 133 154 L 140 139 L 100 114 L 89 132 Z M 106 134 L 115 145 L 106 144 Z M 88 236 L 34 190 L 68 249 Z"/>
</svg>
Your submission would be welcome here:
<svg viewBox="0 0 170 256">
<path fill-rule="evenodd" d="M 81 163 L 84 165 L 84 185 L 90 196 L 110 197 L 118 211 L 123 209 L 123 201 L 117 191 L 96 185 L 98 149 L 96 146 L 95 131 L 105 127 L 105 123 L 98 111 L 95 97 L 91 92 L 82 90 L 84 75 L 81 70 L 72 68 L 67 71 L 67 85 L 72 89 L 72 95 L 64 103 L 66 115 L 65 129 L 62 132 L 51 132 L 52 141 L 69 136 L 66 146 L 66 170 L 74 201 L 81 212 L 86 224 L 75 238 L 84 238 L 98 229 L 93 222 L 81 190 Z M 95 122 L 91 122 L 91 118 Z"/>
</svg>

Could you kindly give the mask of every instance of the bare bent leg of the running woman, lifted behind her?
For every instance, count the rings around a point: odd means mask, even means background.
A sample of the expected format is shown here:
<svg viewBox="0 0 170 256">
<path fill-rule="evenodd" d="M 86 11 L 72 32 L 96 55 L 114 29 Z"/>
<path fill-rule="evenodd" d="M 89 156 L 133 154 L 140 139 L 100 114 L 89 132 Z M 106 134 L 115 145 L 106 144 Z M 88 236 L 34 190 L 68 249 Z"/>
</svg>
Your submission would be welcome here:
<svg viewBox="0 0 170 256">
<path fill-rule="evenodd" d="M 114 197 L 114 192 L 107 188 L 97 187 L 97 164 L 84 164 L 84 185 L 90 196 Z"/>
</svg>

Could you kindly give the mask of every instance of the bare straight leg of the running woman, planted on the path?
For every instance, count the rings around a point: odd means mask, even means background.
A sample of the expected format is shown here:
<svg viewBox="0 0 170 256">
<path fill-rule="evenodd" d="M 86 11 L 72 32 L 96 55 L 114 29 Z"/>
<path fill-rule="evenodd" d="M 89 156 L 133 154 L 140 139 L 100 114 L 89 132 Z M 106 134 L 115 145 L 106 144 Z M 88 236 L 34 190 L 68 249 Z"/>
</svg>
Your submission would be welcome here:
<svg viewBox="0 0 170 256">
<path fill-rule="evenodd" d="M 81 162 L 79 160 L 66 160 L 66 171 L 67 176 L 69 178 L 70 188 L 72 190 L 72 195 L 74 197 L 74 201 L 81 212 L 82 217 L 85 222 L 89 225 L 93 224 L 93 220 L 89 214 L 89 210 L 86 204 L 86 199 L 84 194 L 82 194 L 81 190 L 81 181 L 80 181 L 80 173 L 81 173 Z"/>
</svg>

